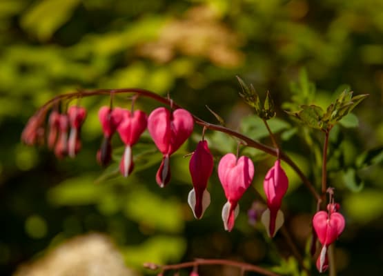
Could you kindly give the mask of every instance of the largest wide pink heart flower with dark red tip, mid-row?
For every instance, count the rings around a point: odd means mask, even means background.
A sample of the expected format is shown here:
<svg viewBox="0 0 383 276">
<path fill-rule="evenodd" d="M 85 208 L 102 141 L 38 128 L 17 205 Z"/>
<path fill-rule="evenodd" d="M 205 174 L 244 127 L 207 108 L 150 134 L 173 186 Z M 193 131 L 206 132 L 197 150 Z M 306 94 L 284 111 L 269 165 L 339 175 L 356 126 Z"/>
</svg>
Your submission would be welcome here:
<svg viewBox="0 0 383 276">
<path fill-rule="evenodd" d="M 174 112 L 166 108 L 156 108 L 150 113 L 149 133 L 159 151 L 164 155 L 156 175 L 157 184 L 161 188 L 170 181 L 170 155 L 188 139 L 193 132 L 193 126 L 193 116 L 181 108 Z"/>
</svg>

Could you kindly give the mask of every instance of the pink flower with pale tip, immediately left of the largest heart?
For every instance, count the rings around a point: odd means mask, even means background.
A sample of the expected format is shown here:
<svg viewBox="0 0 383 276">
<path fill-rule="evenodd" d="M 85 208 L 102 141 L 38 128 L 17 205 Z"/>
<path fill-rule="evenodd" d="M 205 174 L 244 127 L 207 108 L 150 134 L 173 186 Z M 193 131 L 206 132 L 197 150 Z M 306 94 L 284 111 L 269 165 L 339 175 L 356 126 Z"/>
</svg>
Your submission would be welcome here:
<svg viewBox="0 0 383 276">
<path fill-rule="evenodd" d="M 119 165 L 119 170 L 124 177 L 128 177 L 133 170 L 132 146 L 137 143 L 147 124 L 146 114 L 141 110 L 136 110 L 133 114 L 129 110 L 124 110 L 121 123 L 117 127 L 119 137 L 126 144 L 124 155 L 122 155 Z"/>
</svg>

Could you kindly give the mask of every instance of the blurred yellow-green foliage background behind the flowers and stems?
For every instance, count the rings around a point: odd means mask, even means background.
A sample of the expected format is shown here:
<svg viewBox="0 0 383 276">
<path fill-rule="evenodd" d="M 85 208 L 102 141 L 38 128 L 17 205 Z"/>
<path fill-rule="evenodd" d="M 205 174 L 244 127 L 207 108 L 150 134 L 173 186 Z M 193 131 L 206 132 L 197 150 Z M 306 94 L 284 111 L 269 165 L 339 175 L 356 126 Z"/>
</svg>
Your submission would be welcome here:
<svg viewBox="0 0 383 276">
<path fill-rule="evenodd" d="M 235 230 L 226 233 L 221 220 L 226 200 L 214 170 L 208 188 L 212 204 L 201 221 L 193 218 L 184 155 L 200 138 L 199 127 L 172 157 L 172 180 L 164 189 L 155 184 L 161 156 L 147 132 L 135 148 L 139 165 L 128 179 L 112 173 L 117 163 L 106 171 L 97 165 L 97 110 L 108 104 L 108 97 L 81 101 L 88 118 L 76 159 L 57 160 L 45 148 L 20 142 L 28 117 L 55 95 L 79 88 L 136 87 L 169 93 L 195 115 L 216 123 L 207 105 L 231 128 L 270 144 L 262 124 L 238 96 L 235 75 L 253 83 L 261 97 L 270 90 L 279 118 L 272 123 L 277 139 L 317 187 L 323 137 L 302 129 L 283 109 L 314 102 L 326 107 L 346 87 L 355 95 L 370 94 L 333 130 L 328 181 L 346 217 L 335 250 L 340 275 L 380 275 L 380 0 L 0 1 L 0 275 L 87 275 L 84 264 L 92 262 L 104 264 L 105 275 L 144 275 L 143 262 L 194 257 L 237 259 L 299 275 L 284 237 L 271 242 L 262 226 L 248 224 L 246 211 L 258 198 L 254 188 L 240 203 Z M 116 101 L 130 106 L 127 97 Z M 137 106 L 150 112 L 159 105 L 139 99 Z M 216 164 L 235 151 L 230 137 L 213 132 L 207 137 Z M 113 144 L 118 162 L 118 137 Z M 262 192 L 262 178 L 274 159 L 246 148 L 242 153 L 255 161 L 253 186 Z M 286 226 L 307 256 L 315 202 L 294 172 L 286 170 L 291 181 L 282 206 Z M 64 249 L 74 252 L 72 259 L 47 257 L 68 240 Z M 222 267 L 201 270 L 201 275 L 236 273 Z"/>
</svg>

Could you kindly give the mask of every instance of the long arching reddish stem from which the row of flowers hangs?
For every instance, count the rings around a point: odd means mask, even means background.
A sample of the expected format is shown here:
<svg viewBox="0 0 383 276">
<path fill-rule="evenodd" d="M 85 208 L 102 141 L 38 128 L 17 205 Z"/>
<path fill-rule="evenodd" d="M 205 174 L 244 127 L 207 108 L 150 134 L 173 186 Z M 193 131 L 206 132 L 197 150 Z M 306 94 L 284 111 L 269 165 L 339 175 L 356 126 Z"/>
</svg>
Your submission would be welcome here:
<svg viewBox="0 0 383 276">
<path fill-rule="evenodd" d="M 157 95 L 153 92 L 150 92 L 149 90 L 140 89 L 140 88 L 120 88 L 120 89 L 97 89 L 97 90 L 89 90 L 89 91 L 77 91 L 72 92 L 68 94 L 58 95 L 57 97 L 50 99 L 50 101 L 47 101 L 39 110 L 37 110 L 37 115 L 39 115 L 39 112 L 41 114 L 44 114 L 48 111 L 48 108 L 52 106 L 52 104 L 57 103 L 58 101 L 61 101 L 63 99 L 71 99 L 73 97 L 90 97 L 94 95 L 110 95 L 112 94 L 121 94 L 121 93 L 136 93 L 139 96 L 148 97 L 151 99 L 154 99 L 155 101 L 158 101 L 159 103 L 164 103 L 168 106 L 171 106 L 172 108 L 181 108 L 181 106 L 178 106 L 172 99 L 161 97 L 160 95 Z M 291 160 L 287 155 L 284 154 L 284 152 L 280 151 L 278 148 L 272 148 L 270 146 L 266 146 L 262 143 L 259 143 L 258 141 L 255 141 L 245 135 L 242 135 L 241 133 L 231 130 L 230 128 L 226 128 L 224 126 L 219 126 L 215 124 L 210 124 L 207 121 L 204 121 L 202 119 L 199 119 L 199 117 L 193 115 L 193 119 L 195 121 L 195 124 L 198 124 L 199 126 L 203 126 L 204 128 L 208 128 L 210 130 L 217 130 L 220 132 L 224 132 L 228 135 L 232 135 L 234 137 L 237 137 L 237 139 L 240 139 L 242 141 L 242 144 L 245 146 L 249 146 L 251 148 L 257 148 L 258 150 L 262 150 L 263 152 L 268 153 L 269 155 L 274 155 L 275 157 L 280 157 L 283 161 L 285 161 L 295 172 L 297 172 L 297 175 L 302 179 L 302 182 L 308 188 L 310 193 L 315 197 L 315 199 L 320 200 L 320 195 L 317 193 L 311 182 L 307 179 L 307 177 L 304 175 L 302 170 L 298 168 L 298 166 Z"/>
</svg>

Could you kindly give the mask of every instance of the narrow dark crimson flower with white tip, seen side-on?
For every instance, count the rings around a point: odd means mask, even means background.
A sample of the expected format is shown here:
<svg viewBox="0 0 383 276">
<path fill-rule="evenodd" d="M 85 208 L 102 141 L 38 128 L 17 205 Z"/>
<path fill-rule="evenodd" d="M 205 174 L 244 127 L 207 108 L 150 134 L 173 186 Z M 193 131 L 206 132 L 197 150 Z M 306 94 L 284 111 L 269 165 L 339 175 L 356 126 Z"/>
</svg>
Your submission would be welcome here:
<svg viewBox="0 0 383 276">
<path fill-rule="evenodd" d="M 213 155 L 206 140 L 199 141 L 190 158 L 189 170 L 193 181 L 193 189 L 188 195 L 188 204 L 195 218 L 200 219 L 210 204 L 210 194 L 206 190 L 208 179 L 213 172 Z"/>
</svg>

